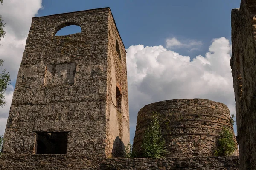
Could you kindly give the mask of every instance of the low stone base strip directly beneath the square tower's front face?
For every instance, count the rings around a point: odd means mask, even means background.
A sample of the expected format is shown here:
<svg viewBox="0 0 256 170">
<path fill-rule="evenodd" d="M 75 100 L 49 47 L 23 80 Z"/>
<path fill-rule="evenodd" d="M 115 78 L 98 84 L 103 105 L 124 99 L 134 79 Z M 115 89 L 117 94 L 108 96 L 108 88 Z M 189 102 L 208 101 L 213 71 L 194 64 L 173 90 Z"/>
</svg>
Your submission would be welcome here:
<svg viewBox="0 0 256 170">
<path fill-rule="evenodd" d="M 105 159 L 86 155 L 3 154 L 0 170 L 96 170 Z"/>
</svg>

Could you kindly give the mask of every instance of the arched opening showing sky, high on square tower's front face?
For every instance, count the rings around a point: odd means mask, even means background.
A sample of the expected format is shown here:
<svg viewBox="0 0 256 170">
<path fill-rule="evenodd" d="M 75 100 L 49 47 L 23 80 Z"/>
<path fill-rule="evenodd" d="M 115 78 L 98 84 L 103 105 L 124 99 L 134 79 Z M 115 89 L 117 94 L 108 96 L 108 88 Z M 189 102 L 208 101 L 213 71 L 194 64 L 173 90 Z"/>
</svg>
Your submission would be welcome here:
<svg viewBox="0 0 256 170">
<path fill-rule="evenodd" d="M 55 36 L 63 36 L 81 33 L 82 29 L 77 23 L 63 23 L 56 28 Z"/>
</svg>

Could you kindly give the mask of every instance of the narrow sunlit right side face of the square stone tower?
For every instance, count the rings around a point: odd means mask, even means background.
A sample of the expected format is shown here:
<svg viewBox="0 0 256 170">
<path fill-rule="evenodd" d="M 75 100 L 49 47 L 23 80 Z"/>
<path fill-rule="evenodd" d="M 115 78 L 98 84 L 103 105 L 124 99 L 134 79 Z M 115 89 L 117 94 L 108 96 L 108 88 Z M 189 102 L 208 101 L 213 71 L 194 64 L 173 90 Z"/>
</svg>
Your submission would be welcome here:
<svg viewBox="0 0 256 170">
<path fill-rule="evenodd" d="M 108 16 L 107 156 L 120 157 L 130 142 L 126 51 Z"/>
</svg>

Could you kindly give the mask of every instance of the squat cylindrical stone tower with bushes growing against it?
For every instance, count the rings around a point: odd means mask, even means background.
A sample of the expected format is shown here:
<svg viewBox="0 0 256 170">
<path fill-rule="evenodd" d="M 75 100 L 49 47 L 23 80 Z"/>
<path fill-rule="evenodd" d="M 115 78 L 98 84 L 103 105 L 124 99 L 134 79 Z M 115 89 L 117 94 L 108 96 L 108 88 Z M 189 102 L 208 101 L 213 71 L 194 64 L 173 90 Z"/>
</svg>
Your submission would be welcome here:
<svg viewBox="0 0 256 170">
<path fill-rule="evenodd" d="M 234 133 L 226 105 L 207 99 L 175 99 L 151 103 L 140 109 L 133 149 L 141 153 L 145 129 L 153 112 L 159 113 L 166 157 L 213 156 L 223 127 Z M 235 135 L 234 135 L 234 140 Z M 238 155 L 236 150 L 234 155 Z"/>
</svg>

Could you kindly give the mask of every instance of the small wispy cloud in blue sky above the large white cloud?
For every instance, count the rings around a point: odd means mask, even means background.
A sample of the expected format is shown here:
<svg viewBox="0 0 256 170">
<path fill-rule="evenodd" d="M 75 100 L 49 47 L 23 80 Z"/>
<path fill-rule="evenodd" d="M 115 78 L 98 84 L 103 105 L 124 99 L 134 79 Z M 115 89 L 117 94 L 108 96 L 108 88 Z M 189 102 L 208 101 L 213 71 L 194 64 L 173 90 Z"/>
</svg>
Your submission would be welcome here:
<svg viewBox="0 0 256 170">
<path fill-rule="evenodd" d="M 189 52 L 192 52 L 199 50 L 202 45 L 202 41 L 198 40 L 184 40 L 183 42 L 180 42 L 177 38 L 166 39 L 166 48 L 169 49 L 188 48 Z"/>
</svg>

